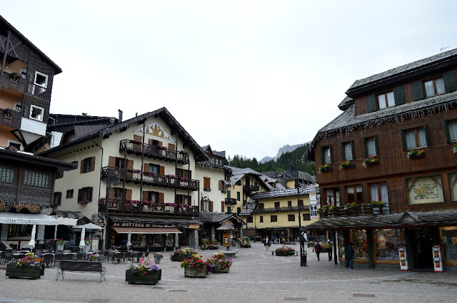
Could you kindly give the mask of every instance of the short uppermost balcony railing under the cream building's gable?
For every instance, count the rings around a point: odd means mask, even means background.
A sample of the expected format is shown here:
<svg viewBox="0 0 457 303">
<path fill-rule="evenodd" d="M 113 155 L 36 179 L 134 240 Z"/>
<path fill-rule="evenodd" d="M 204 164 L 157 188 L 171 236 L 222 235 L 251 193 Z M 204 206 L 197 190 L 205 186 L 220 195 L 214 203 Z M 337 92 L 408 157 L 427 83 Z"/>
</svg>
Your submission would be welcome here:
<svg viewBox="0 0 457 303">
<path fill-rule="evenodd" d="M 170 162 L 177 160 L 179 163 L 183 164 L 189 163 L 189 153 L 171 150 L 158 145 L 143 144 L 134 140 L 121 140 L 119 150 L 126 150 L 127 153 L 135 153 L 136 155 L 141 155 L 144 150 L 144 155 L 148 158 Z"/>
</svg>

